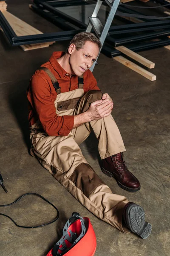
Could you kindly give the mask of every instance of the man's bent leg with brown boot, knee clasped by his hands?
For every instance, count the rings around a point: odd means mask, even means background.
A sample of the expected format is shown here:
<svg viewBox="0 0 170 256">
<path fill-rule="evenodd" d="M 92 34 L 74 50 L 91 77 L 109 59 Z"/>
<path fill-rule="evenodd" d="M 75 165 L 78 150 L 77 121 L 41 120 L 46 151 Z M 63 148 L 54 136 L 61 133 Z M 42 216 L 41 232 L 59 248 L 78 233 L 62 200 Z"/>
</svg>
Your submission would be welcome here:
<svg viewBox="0 0 170 256">
<path fill-rule="evenodd" d="M 100 90 L 89 91 L 80 100 L 74 114 L 77 115 L 87 111 L 92 102 L 100 99 L 102 99 Z M 122 189 L 130 192 L 138 191 L 140 189 L 139 180 L 129 172 L 123 160 L 122 152 L 125 151 L 125 146 L 113 117 L 109 115 L 79 126 L 73 131 L 74 139 L 78 144 L 82 143 L 91 130 L 94 131 L 96 138 L 99 140 L 99 154 L 103 160 L 102 172 L 109 177 L 114 177 Z M 87 136 L 82 137 L 82 132 Z"/>
</svg>

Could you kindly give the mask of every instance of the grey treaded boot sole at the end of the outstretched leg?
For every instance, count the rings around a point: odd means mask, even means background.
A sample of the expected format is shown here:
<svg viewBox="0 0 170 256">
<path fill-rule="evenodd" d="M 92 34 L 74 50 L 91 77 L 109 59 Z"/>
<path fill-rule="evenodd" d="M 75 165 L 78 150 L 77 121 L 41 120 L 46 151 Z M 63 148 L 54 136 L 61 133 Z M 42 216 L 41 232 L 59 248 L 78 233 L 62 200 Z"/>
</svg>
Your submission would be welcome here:
<svg viewBox="0 0 170 256">
<path fill-rule="evenodd" d="M 152 225 L 145 221 L 145 212 L 141 206 L 130 204 L 126 209 L 125 215 L 125 222 L 130 231 L 140 236 L 142 239 L 146 239 L 150 235 Z"/>
</svg>

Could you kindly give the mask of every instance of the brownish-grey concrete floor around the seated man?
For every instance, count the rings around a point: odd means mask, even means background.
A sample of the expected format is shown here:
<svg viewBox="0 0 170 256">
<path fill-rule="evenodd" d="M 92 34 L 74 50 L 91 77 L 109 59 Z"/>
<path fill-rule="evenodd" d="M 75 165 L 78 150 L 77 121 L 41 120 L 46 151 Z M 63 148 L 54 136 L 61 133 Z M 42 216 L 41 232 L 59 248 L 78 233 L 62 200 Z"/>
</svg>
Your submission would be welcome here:
<svg viewBox="0 0 170 256">
<path fill-rule="evenodd" d="M 42 32 L 56 31 L 56 26 L 28 9 L 27 0 L 7 3 L 9 12 Z M 35 192 L 51 201 L 60 212 L 57 222 L 33 230 L 18 228 L 0 216 L 0 255 L 45 256 L 61 236 L 71 213 L 76 211 L 91 219 L 97 238 L 95 256 L 167 256 L 170 250 L 170 51 L 162 47 L 141 52 L 156 63 L 153 73 L 157 80 L 153 82 L 103 54 L 94 69 L 99 87 L 113 98 L 113 117 L 127 150 L 125 161 L 140 180 L 141 190 L 134 194 L 126 192 L 116 180 L 101 172 L 93 135 L 81 145 L 89 164 L 113 193 L 125 195 L 144 207 L 153 231 L 148 239 L 142 240 L 96 218 L 28 154 L 29 79 L 53 51 L 65 50 L 67 43 L 23 52 L 19 47 L 9 46 L 0 32 L 0 171 L 8 189 L 5 194 L 0 188 L 0 204 L 9 204 L 24 193 Z M 56 215 L 54 209 L 32 195 L 13 206 L 1 207 L 0 212 L 10 215 L 20 225 L 42 224 Z"/>
</svg>

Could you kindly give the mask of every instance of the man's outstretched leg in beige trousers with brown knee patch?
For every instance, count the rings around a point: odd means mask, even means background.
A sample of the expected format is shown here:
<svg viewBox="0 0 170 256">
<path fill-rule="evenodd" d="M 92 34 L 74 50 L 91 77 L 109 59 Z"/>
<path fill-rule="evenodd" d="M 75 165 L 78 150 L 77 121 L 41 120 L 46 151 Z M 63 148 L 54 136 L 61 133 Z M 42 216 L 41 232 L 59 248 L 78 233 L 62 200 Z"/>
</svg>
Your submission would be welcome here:
<svg viewBox="0 0 170 256">
<path fill-rule="evenodd" d="M 122 215 L 128 200 L 116 195 L 96 175 L 82 155 L 70 133 L 65 137 L 31 134 L 32 150 L 48 171 L 88 210 L 117 229 L 122 227 Z"/>
</svg>

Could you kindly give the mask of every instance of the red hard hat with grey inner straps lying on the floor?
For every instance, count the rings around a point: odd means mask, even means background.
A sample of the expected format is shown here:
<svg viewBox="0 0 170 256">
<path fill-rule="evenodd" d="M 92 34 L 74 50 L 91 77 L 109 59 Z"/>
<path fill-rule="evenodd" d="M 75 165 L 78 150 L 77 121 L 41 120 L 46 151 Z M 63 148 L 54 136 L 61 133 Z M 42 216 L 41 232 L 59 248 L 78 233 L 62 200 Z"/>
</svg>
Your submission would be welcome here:
<svg viewBox="0 0 170 256">
<path fill-rule="evenodd" d="M 89 218 L 73 212 L 63 228 L 63 236 L 47 256 L 94 256 L 96 235 Z"/>
</svg>

